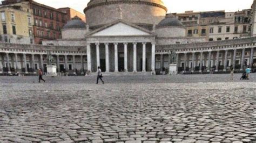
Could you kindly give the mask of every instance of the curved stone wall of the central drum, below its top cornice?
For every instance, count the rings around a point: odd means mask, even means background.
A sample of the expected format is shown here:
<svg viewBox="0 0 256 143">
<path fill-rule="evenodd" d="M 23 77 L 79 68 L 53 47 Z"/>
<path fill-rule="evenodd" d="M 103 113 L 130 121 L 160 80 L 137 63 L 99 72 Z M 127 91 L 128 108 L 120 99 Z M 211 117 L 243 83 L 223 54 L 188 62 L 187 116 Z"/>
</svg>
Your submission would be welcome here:
<svg viewBox="0 0 256 143">
<path fill-rule="evenodd" d="M 158 24 L 166 15 L 165 9 L 153 5 L 107 4 L 87 9 L 85 11 L 87 24 L 90 26 L 104 25 L 120 19 L 119 5 L 122 9 L 122 19 L 130 23 Z"/>
</svg>

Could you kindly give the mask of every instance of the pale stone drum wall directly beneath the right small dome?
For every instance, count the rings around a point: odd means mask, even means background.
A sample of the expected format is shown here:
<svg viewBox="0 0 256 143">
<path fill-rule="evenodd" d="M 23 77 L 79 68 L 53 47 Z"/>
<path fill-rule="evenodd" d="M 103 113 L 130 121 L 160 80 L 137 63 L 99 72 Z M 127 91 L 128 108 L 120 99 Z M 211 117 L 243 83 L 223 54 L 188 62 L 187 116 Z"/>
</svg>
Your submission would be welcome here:
<svg viewBox="0 0 256 143">
<path fill-rule="evenodd" d="M 183 27 L 164 27 L 157 28 L 156 33 L 158 37 L 185 37 L 186 29 Z"/>
</svg>

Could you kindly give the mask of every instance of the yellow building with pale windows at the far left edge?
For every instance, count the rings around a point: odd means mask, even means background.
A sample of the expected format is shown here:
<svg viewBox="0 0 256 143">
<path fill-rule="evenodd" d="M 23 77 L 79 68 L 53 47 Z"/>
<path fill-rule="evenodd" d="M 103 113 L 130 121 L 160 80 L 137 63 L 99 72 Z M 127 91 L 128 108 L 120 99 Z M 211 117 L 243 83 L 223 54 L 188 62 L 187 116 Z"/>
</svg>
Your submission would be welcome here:
<svg viewBox="0 0 256 143">
<path fill-rule="evenodd" d="M 28 2 L 2 5 L 0 15 L 0 41 L 19 44 L 33 43 L 33 15 Z"/>
</svg>

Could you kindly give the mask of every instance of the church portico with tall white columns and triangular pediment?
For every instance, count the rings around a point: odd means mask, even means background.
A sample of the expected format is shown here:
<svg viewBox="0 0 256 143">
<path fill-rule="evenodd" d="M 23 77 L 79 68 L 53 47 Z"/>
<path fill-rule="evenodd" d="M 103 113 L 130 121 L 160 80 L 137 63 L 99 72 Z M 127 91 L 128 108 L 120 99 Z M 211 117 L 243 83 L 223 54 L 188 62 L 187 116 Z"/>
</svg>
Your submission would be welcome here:
<svg viewBox="0 0 256 143">
<path fill-rule="evenodd" d="M 154 73 L 155 39 L 151 31 L 122 20 L 92 31 L 86 35 L 88 70 Z"/>
</svg>

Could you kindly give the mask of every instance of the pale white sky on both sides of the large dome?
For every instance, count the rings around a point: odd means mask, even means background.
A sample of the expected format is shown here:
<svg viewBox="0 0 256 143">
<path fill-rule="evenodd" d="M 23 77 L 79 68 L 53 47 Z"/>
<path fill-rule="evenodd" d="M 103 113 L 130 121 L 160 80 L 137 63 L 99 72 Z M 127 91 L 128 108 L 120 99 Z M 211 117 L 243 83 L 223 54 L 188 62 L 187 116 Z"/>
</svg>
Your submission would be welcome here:
<svg viewBox="0 0 256 143">
<path fill-rule="evenodd" d="M 54 8 L 70 7 L 83 12 L 89 0 L 35 0 Z M 238 11 L 250 9 L 253 0 L 163 0 L 169 12 L 193 11 L 212 11 L 226 10 Z"/>
</svg>

